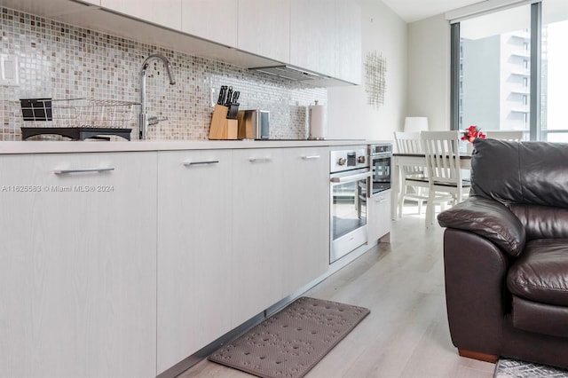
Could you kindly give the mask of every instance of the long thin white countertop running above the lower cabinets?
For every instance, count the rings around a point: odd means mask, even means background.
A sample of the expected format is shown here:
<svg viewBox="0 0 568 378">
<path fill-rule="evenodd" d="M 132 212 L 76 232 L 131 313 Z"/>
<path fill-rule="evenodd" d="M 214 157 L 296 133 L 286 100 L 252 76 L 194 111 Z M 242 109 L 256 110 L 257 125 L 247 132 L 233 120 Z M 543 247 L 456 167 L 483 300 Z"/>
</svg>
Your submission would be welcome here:
<svg viewBox="0 0 568 378">
<path fill-rule="evenodd" d="M 0 154 L 67 154 L 130 151 L 212 150 L 312 146 L 364 146 L 384 141 L 344 140 L 132 140 L 132 141 L 6 141 Z"/>
</svg>

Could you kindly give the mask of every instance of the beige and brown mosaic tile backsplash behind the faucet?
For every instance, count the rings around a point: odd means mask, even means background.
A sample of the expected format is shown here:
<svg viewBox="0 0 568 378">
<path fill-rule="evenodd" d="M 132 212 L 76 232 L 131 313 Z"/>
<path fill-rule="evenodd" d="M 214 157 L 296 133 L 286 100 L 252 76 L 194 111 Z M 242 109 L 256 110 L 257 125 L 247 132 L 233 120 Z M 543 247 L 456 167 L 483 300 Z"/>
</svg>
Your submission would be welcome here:
<svg viewBox="0 0 568 378">
<path fill-rule="evenodd" d="M 209 136 L 211 88 L 217 101 L 221 85 L 241 91 L 240 109 L 270 111 L 271 138 L 306 138 L 307 106 L 327 103 L 325 88 L 306 87 L 160 46 L 74 27 L 0 7 L 0 47 L 19 59 L 19 86 L 0 86 L 0 140 L 20 140 L 22 126 L 59 127 L 52 122 L 23 121 L 20 98 L 101 98 L 139 102 L 140 68 L 144 59 L 161 53 L 170 60 L 176 84 L 165 67 L 153 60 L 146 77 L 148 116 L 167 117 L 149 127 L 150 139 L 206 140 Z M 59 103 L 60 104 L 60 103 Z M 57 106 L 57 105 L 54 105 Z M 139 106 L 121 127 L 138 138 Z"/>
</svg>

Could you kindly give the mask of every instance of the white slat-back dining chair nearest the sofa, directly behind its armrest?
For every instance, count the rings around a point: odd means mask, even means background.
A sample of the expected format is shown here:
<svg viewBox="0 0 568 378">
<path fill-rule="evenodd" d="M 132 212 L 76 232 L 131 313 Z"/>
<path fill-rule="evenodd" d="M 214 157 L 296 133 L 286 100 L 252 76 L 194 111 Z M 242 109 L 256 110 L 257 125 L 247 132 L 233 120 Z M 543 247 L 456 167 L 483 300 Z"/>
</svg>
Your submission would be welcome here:
<svg viewBox="0 0 568 378">
<path fill-rule="evenodd" d="M 436 212 L 434 200 L 446 195 L 453 204 L 461 202 L 463 195 L 469 193 L 471 183 L 461 177 L 460 134 L 457 130 L 422 131 L 421 139 L 429 178 L 426 227 L 430 227 Z"/>
</svg>

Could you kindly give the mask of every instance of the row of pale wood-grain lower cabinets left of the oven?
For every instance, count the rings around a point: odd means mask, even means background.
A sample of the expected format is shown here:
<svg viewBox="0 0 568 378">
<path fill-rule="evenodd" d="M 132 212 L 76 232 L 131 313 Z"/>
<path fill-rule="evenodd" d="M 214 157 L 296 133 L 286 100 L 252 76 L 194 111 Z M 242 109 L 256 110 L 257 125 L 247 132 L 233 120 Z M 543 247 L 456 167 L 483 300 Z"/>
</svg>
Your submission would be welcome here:
<svg viewBox="0 0 568 378">
<path fill-rule="evenodd" d="M 328 156 L 0 155 L 0 377 L 154 377 L 327 272 Z"/>
</svg>

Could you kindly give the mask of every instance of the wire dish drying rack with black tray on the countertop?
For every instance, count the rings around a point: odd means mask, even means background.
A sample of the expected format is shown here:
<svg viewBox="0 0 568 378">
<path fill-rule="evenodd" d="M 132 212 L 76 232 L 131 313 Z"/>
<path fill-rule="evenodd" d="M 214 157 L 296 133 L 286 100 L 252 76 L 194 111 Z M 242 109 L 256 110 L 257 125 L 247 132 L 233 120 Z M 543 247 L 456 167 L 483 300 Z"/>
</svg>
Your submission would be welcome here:
<svg viewBox="0 0 568 378">
<path fill-rule="evenodd" d="M 100 98 L 21 98 L 22 139 L 55 134 L 83 140 L 109 140 L 118 136 L 130 140 L 128 128 L 138 102 Z"/>
</svg>

